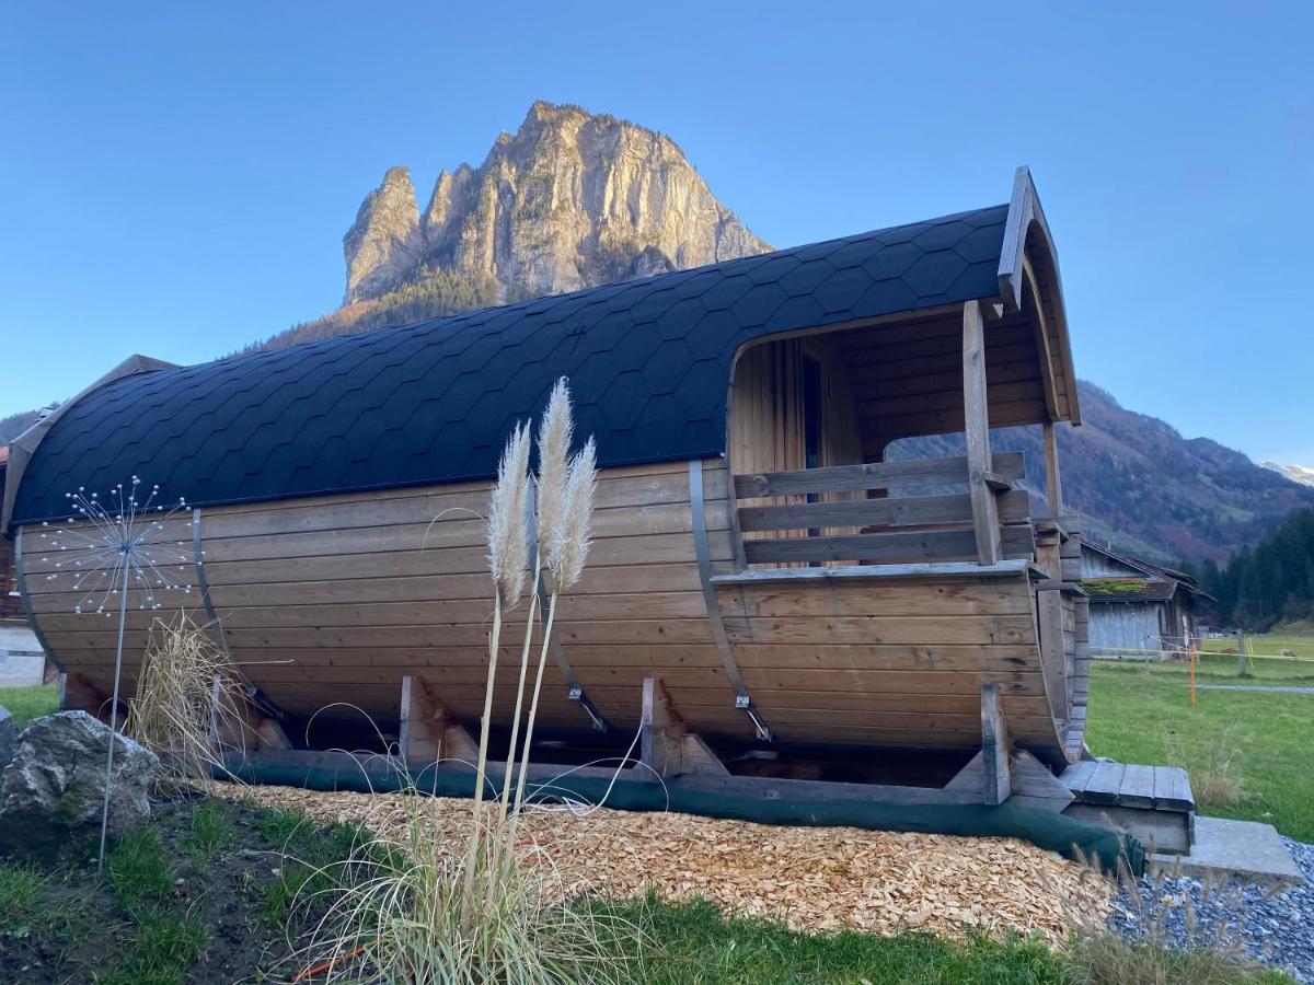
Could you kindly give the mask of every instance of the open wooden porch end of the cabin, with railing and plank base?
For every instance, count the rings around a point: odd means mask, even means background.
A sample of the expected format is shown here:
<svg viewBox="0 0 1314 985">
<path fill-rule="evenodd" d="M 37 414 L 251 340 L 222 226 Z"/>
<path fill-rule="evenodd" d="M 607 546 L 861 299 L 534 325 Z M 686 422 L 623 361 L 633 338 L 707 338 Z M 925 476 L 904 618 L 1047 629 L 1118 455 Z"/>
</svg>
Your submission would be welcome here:
<svg viewBox="0 0 1314 985">
<path fill-rule="evenodd" d="M 1080 759 L 1087 608 L 1055 439 L 1076 415 L 1034 271 L 1022 282 L 1013 314 L 970 301 L 745 353 L 731 397 L 736 563 L 710 579 L 710 608 L 759 733 L 980 747 L 993 688 L 1005 756 Z M 1024 454 L 993 450 L 992 418 L 1041 427 L 1039 508 Z M 964 454 L 886 460 L 901 437 L 955 432 Z M 828 679 L 791 691 L 786 666 Z"/>
</svg>

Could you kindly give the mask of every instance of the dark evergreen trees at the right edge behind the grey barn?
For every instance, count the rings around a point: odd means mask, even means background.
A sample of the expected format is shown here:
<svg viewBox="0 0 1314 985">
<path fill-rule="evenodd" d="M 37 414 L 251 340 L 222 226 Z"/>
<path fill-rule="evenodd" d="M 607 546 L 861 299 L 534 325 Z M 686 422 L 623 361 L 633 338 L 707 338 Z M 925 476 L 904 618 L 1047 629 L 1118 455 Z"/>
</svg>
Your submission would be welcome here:
<svg viewBox="0 0 1314 985">
<path fill-rule="evenodd" d="M 1314 510 L 1296 510 L 1254 548 L 1219 566 L 1206 561 L 1200 587 L 1217 599 L 1217 625 L 1263 632 L 1314 619 Z"/>
</svg>

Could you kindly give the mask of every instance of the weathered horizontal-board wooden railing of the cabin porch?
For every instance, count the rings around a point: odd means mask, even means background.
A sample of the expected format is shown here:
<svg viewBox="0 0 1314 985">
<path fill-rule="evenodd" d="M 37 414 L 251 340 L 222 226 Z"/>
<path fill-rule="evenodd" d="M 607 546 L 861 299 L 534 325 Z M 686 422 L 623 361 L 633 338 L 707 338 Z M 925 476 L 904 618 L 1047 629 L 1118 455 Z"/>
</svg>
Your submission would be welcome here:
<svg viewBox="0 0 1314 985">
<path fill-rule="evenodd" d="M 984 481 L 997 507 L 1001 553 L 1005 558 L 1031 558 L 1035 537 L 1028 517 L 1026 491 L 1012 487 L 1024 475 L 1022 454 L 1000 453 L 992 464 L 993 471 Z M 968 487 L 970 479 L 966 457 L 736 475 L 738 500 L 796 499 L 738 508 L 738 525 L 745 535 L 792 532 L 781 537 L 745 537 L 745 561 L 775 565 L 976 561 L 971 492 L 870 498 L 872 492 L 926 486 Z M 866 498 L 837 499 L 837 494 Z M 803 496 L 807 499 L 799 499 Z M 827 499 L 815 499 L 820 496 Z"/>
</svg>

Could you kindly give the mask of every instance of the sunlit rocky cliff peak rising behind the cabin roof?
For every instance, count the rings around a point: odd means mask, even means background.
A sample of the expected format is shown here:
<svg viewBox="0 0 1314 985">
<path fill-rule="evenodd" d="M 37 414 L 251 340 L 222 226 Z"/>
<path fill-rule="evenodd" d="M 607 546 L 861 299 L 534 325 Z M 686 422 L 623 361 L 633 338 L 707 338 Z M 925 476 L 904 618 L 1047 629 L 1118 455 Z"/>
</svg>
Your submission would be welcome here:
<svg viewBox="0 0 1314 985">
<path fill-rule="evenodd" d="M 343 239 L 346 305 L 436 273 L 493 278 L 502 299 L 577 290 L 770 247 L 712 196 L 670 138 L 535 102 L 477 168 L 439 175 L 420 213 L 392 168 Z"/>
</svg>

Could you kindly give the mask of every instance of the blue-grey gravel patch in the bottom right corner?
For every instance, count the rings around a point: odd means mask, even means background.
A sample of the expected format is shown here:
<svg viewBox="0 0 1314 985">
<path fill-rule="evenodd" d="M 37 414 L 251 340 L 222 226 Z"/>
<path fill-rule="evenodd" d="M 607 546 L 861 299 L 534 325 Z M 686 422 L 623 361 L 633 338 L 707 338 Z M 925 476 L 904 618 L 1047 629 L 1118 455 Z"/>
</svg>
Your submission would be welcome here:
<svg viewBox="0 0 1314 985">
<path fill-rule="evenodd" d="M 1314 984 L 1314 844 L 1282 839 L 1306 884 L 1269 896 L 1254 886 L 1212 888 L 1194 879 L 1146 877 L 1114 900 L 1110 925 L 1169 944 L 1236 948 Z M 1147 930 L 1148 929 L 1148 930 Z"/>
</svg>

